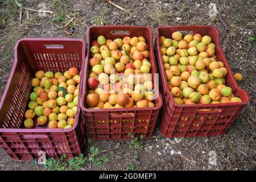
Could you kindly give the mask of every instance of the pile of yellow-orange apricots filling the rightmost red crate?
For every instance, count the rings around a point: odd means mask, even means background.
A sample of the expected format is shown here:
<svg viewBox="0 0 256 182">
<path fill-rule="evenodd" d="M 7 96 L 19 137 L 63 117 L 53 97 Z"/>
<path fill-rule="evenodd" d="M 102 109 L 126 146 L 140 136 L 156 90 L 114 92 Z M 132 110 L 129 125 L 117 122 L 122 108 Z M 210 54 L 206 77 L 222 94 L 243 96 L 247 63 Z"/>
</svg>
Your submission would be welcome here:
<svg viewBox="0 0 256 182">
<path fill-rule="evenodd" d="M 225 85 L 228 69 L 217 60 L 212 38 L 173 32 L 160 36 L 160 51 L 168 88 L 176 104 L 242 102 Z"/>
</svg>

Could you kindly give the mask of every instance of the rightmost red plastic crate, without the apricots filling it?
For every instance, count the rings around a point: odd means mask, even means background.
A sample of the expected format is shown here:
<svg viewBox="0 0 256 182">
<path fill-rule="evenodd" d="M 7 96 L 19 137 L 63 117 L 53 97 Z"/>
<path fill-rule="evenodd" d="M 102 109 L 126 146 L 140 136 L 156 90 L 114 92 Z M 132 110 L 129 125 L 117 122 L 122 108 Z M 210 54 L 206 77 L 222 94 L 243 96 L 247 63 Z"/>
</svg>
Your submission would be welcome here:
<svg viewBox="0 0 256 182">
<path fill-rule="evenodd" d="M 162 55 L 159 46 L 159 37 L 170 38 L 175 31 L 185 34 L 209 35 L 216 45 L 216 56 L 228 69 L 225 77 L 226 85 L 230 86 L 233 93 L 240 97 L 242 102 L 228 104 L 194 104 L 177 105 L 173 101 L 172 94 L 168 89 L 166 75 L 164 72 Z M 164 103 L 162 109 L 162 121 L 160 133 L 164 137 L 206 137 L 225 134 L 242 109 L 249 102 L 248 93 L 239 88 L 233 77 L 233 72 L 228 60 L 220 47 L 220 34 L 213 26 L 160 26 L 156 28 L 155 53 L 158 60 L 158 69 L 161 76 L 160 91 L 163 94 Z"/>
</svg>

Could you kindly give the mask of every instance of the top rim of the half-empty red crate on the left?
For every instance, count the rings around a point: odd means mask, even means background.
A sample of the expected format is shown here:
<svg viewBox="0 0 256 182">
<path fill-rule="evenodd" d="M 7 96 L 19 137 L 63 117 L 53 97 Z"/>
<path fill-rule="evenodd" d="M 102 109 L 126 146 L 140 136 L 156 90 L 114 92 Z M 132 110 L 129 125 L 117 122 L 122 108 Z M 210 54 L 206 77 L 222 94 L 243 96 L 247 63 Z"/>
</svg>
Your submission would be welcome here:
<svg viewBox="0 0 256 182">
<path fill-rule="evenodd" d="M 18 64 L 18 52 L 17 52 L 17 48 L 19 46 L 19 43 L 24 41 L 24 40 L 39 40 L 39 41 L 45 41 L 45 40 L 49 40 L 49 41 L 80 41 L 82 43 L 82 63 L 81 63 L 81 75 L 83 73 L 83 67 L 84 64 L 83 62 L 85 62 L 85 51 L 86 51 L 86 43 L 84 39 L 73 39 L 73 38 L 22 38 L 19 39 L 15 46 L 14 46 L 14 64 L 13 67 L 11 68 L 11 73 L 9 76 L 9 79 L 7 81 L 6 87 L 5 87 L 5 91 L 3 92 L 3 96 L 1 97 L 1 101 L 0 101 L 0 110 L 3 107 L 3 100 L 2 98 L 6 98 L 7 92 L 9 91 L 10 88 L 10 84 L 11 84 L 11 80 L 13 79 L 13 76 L 15 74 L 15 68 L 16 65 Z M 83 79 L 82 79 L 83 81 Z M 82 82 L 81 82 L 82 83 Z M 83 84 L 83 83 L 82 83 Z M 79 89 L 79 93 L 82 92 L 82 85 L 81 85 L 81 89 Z M 80 94 L 81 96 L 81 94 Z M 5 128 L 0 128 L 0 133 L 63 133 L 63 132 L 70 132 L 76 129 L 77 125 L 79 124 L 79 115 L 81 114 L 81 104 L 80 104 L 80 100 L 79 100 L 79 104 L 77 104 L 79 106 L 77 106 L 77 113 L 75 116 L 75 124 L 70 128 L 70 129 L 5 129 Z"/>
</svg>

